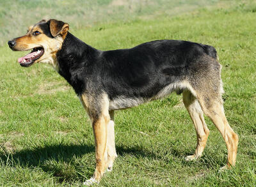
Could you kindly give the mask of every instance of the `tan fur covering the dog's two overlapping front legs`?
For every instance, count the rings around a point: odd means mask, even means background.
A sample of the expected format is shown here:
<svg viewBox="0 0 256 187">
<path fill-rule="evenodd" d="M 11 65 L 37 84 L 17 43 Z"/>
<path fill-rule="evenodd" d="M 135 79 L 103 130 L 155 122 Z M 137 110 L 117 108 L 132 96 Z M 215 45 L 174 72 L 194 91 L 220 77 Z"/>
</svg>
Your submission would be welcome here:
<svg viewBox="0 0 256 187">
<path fill-rule="evenodd" d="M 100 105 L 100 116 L 94 114 L 95 108 L 92 105 L 91 96 L 82 94 L 79 96 L 81 103 L 86 108 L 92 121 L 93 134 L 95 138 L 95 158 L 96 168 L 92 181 L 100 181 L 107 168 L 111 169 L 113 161 L 116 158 L 115 151 L 115 131 L 114 131 L 114 113 L 109 115 L 109 100 L 106 94 L 102 94 Z M 108 142 L 108 144 L 107 144 Z"/>
</svg>

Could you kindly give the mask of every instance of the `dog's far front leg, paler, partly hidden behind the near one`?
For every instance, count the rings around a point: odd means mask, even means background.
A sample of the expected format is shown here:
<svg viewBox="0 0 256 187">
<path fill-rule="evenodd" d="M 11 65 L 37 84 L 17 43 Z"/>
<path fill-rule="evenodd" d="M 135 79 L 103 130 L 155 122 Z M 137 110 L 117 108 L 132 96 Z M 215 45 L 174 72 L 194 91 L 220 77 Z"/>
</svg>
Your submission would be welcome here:
<svg viewBox="0 0 256 187">
<path fill-rule="evenodd" d="M 115 110 L 109 111 L 110 121 L 108 123 L 108 139 L 107 139 L 108 171 L 112 170 L 113 163 L 115 161 L 115 158 L 117 157 L 116 147 L 115 147 L 114 114 L 115 114 Z"/>
</svg>

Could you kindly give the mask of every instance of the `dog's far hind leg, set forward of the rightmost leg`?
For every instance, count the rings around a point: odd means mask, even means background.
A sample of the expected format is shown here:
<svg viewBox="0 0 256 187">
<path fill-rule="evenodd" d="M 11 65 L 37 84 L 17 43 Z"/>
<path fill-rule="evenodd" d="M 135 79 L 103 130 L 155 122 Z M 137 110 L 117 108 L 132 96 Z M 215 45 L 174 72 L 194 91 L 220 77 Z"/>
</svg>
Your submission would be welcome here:
<svg viewBox="0 0 256 187">
<path fill-rule="evenodd" d="M 189 116 L 191 117 L 195 126 L 197 137 L 195 154 L 186 156 L 186 161 L 190 161 L 202 156 L 209 135 L 209 129 L 205 124 L 204 113 L 202 111 L 200 103 L 195 98 L 195 96 L 193 96 L 193 94 L 191 94 L 191 92 L 188 90 L 184 91 L 182 96 L 184 105 L 187 108 Z"/>
</svg>

